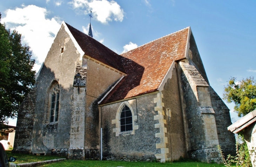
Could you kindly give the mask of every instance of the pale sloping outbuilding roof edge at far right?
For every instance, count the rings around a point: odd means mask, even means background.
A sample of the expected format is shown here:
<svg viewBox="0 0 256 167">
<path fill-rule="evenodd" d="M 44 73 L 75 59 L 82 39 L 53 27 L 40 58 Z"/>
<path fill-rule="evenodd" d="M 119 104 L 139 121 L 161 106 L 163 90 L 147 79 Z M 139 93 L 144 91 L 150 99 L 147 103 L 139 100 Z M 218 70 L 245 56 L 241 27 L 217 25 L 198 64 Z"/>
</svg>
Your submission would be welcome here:
<svg viewBox="0 0 256 167">
<path fill-rule="evenodd" d="M 238 121 L 236 121 L 234 124 L 230 125 L 228 127 L 228 130 L 233 133 L 238 133 L 242 131 L 244 128 L 250 126 L 252 123 L 256 121 L 256 110 L 248 113 Z"/>
</svg>

